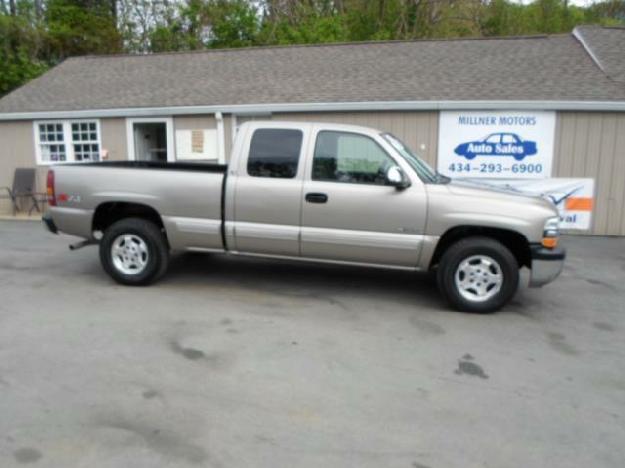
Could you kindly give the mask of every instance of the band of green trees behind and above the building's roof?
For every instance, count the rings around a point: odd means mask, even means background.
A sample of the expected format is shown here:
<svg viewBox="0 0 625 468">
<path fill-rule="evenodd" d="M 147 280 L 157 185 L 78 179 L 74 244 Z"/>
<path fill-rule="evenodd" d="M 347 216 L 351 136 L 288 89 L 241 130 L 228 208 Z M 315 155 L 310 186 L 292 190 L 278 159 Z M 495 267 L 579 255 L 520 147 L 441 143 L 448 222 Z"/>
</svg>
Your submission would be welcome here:
<svg viewBox="0 0 625 468">
<path fill-rule="evenodd" d="M 557 34 L 625 0 L 0 0 L 0 95 L 73 55 Z"/>
</svg>

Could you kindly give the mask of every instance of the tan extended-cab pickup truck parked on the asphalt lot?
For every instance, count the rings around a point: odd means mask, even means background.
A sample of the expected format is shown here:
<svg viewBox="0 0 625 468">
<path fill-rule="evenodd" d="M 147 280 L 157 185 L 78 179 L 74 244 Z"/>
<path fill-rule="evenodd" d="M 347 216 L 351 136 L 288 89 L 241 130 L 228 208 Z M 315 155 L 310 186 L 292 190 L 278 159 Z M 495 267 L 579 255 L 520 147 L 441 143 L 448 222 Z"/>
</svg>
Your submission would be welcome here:
<svg viewBox="0 0 625 468">
<path fill-rule="evenodd" d="M 522 269 L 542 286 L 565 257 L 552 202 L 452 181 L 393 135 L 351 125 L 248 122 L 227 166 L 59 164 L 47 191 L 47 228 L 99 244 L 126 285 L 156 281 L 172 251 L 224 252 L 431 271 L 453 307 L 492 312 Z"/>
</svg>

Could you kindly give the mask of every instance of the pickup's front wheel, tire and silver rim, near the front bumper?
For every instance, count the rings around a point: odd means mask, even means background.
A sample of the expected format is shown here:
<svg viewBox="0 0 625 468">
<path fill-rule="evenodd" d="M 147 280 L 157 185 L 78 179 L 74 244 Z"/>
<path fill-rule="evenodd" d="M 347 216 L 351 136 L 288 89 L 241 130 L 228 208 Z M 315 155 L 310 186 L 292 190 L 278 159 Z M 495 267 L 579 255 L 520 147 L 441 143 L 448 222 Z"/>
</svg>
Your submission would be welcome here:
<svg viewBox="0 0 625 468">
<path fill-rule="evenodd" d="M 516 292 L 519 265 L 500 242 L 488 237 L 470 237 L 445 251 L 436 279 L 441 293 L 454 308 L 495 312 Z"/>
</svg>

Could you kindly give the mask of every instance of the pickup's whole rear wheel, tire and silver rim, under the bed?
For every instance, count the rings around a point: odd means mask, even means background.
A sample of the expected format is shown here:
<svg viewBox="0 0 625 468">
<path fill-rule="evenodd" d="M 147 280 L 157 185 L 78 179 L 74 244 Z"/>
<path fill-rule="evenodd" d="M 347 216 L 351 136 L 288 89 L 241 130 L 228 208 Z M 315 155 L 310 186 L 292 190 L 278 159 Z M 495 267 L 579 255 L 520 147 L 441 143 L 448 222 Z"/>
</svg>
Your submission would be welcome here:
<svg viewBox="0 0 625 468">
<path fill-rule="evenodd" d="M 167 270 L 167 241 L 150 221 L 122 219 L 104 231 L 100 241 L 100 262 L 104 271 L 118 283 L 147 285 Z"/>
</svg>

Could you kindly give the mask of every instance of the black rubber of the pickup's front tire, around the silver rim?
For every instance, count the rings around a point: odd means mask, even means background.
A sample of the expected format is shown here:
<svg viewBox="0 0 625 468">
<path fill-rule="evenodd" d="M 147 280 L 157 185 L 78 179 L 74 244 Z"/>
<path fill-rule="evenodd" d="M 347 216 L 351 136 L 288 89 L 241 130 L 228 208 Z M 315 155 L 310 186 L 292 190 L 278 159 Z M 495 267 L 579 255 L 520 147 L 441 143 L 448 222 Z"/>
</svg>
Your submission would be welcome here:
<svg viewBox="0 0 625 468">
<path fill-rule="evenodd" d="M 473 256 L 495 260 L 503 276 L 499 291 L 487 300 L 469 300 L 456 285 L 456 271 L 460 264 Z M 489 237 L 468 237 L 452 244 L 443 253 L 437 271 L 438 287 L 447 301 L 463 312 L 490 313 L 501 309 L 519 287 L 519 265 L 510 250 Z M 480 281 L 476 279 L 476 281 Z M 465 294 L 471 294 L 465 292 Z"/>
</svg>

